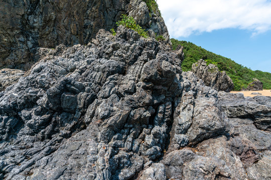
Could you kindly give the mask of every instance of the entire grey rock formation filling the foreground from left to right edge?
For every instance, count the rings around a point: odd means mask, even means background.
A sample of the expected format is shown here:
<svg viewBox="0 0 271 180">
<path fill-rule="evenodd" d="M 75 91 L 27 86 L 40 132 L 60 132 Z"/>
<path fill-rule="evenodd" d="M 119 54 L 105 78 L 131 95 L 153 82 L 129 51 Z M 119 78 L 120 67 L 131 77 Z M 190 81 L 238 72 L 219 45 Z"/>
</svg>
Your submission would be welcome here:
<svg viewBox="0 0 271 180">
<path fill-rule="evenodd" d="M 0 92 L 0 179 L 268 179 L 271 97 L 217 92 L 120 26 Z"/>
</svg>

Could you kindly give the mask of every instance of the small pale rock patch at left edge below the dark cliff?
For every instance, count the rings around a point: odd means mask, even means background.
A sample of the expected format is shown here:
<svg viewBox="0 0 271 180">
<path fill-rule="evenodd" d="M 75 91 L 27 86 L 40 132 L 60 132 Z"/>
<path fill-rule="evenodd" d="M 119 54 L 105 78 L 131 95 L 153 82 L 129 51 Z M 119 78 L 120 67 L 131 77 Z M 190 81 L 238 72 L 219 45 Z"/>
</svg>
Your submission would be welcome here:
<svg viewBox="0 0 271 180">
<path fill-rule="evenodd" d="M 0 70 L 0 92 L 9 85 L 14 84 L 25 74 L 25 71 L 19 69 L 4 68 Z"/>
</svg>

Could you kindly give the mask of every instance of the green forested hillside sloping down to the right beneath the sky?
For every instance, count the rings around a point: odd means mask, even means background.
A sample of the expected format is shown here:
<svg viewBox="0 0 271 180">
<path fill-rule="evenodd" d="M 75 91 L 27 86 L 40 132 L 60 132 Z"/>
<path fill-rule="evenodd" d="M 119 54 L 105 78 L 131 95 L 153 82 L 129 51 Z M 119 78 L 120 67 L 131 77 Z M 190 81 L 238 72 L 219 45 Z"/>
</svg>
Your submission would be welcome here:
<svg viewBox="0 0 271 180">
<path fill-rule="evenodd" d="M 192 42 L 179 41 L 173 38 L 171 42 L 173 49 L 176 49 L 178 45 L 184 47 L 184 61 L 182 62 L 182 69 L 184 71 L 191 70 L 192 64 L 202 58 L 207 63 L 216 64 L 219 70 L 226 71 L 234 83 L 234 90 L 241 90 L 242 87 L 246 88 L 248 83 L 253 81 L 253 78 L 257 78 L 263 83 L 263 89 L 271 89 L 271 73 L 269 72 L 251 70 L 234 62 L 230 58 L 205 50 Z"/>
</svg>

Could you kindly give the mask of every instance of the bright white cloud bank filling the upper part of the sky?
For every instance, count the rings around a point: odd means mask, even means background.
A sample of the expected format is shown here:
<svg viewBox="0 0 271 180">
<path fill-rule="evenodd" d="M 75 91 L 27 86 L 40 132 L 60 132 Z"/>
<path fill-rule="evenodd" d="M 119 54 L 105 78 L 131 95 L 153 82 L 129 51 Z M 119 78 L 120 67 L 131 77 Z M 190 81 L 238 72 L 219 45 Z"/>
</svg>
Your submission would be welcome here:
<svg viewBox="0 0 271 180">
<path fill-rule="evenodd" d="M 157 0 L 172 37 L 223 28 L 271 29 L 271 0 Z"/>
</svg>

